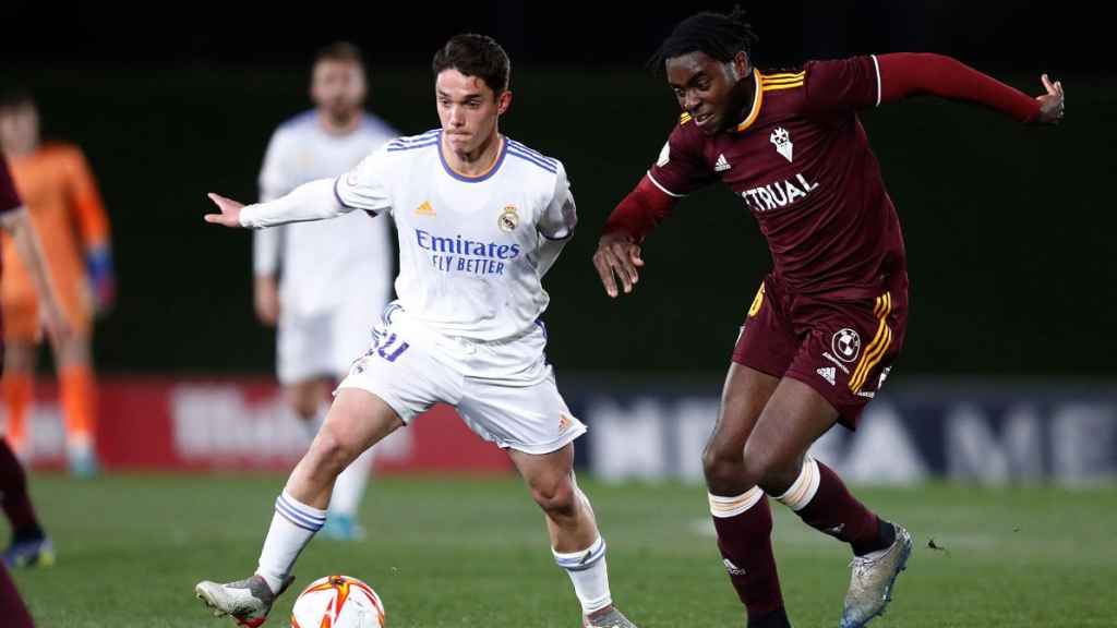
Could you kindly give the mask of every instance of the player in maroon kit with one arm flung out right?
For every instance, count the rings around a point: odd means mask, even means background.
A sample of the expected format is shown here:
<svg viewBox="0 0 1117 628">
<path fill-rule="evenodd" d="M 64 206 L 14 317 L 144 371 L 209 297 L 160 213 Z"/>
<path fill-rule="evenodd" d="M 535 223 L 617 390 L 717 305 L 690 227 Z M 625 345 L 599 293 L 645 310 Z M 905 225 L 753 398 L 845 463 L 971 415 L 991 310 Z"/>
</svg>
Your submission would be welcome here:
<svg viewBox="0 0 1117 628">
<path fill-rule="evenodd" d="M 829 467 L 806 455 L 849 429 L 904 343 L 907 264 L 899 220 L 857 111 L 914 94 L 1058 123 L 1062 86 L 1032 98 L 949 57 L 892 54 L 763 73 L 739 10 L 680 22 L 655 57 L 684 113 L 659 159 L 605 223 L 593 256 L 611 297 L 632 291 L 643 238 L 688 193 L 722 181 L 756 218 L 774 268 L 752 306 L 703 456 L 718 549 L 751 628 L 790 626 L 772 555 L 767 495 L 855 558 L 842 628 L 880 615 L 911 551 Z"/>
</svg>

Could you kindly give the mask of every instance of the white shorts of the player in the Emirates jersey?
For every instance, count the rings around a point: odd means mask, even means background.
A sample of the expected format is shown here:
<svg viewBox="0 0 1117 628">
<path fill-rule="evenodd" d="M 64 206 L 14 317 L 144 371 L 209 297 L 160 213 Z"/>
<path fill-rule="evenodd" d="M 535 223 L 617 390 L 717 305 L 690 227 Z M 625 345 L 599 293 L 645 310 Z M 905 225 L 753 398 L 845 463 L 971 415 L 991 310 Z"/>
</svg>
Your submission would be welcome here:
<svg viewBox="0 0 1117 628">
<path fill-rule="evenodd" d="M 551 365 L 535 351 L 541 339 L 534 333 L 505 343 L 470 342 L 393 321 L 378 326 L 375 337 L 337 388 L 375 394 L 404 424 L 447 403 L 485 440 L 525 454 L 550 454 L 585 434 L 558 393 Z M 533 356 L 533 363 L 509 370 L 515 354 Z M 497 377 L 478 377 L 486 362 Z"/>
</svg>

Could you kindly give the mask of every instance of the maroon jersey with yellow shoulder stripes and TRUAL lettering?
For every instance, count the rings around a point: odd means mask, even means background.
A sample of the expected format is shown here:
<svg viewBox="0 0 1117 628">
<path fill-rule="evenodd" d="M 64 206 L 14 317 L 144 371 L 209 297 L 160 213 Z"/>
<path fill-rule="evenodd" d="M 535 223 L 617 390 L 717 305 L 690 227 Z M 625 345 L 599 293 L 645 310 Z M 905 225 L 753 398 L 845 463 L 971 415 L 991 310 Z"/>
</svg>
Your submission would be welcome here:
<svg viewBox="0 0 1117 628">
<path fill-rule="evenodd" d="M 876 57 L 754 70 L 754 79 L 744 122 L 709 136 L 684 114 L 649 178 L 675 197 L 729 185 L 794 293 L 860 298 L 885 282 L 906 286 L 899 220 L 856 113 L 880 103 Z"/>
</svg>

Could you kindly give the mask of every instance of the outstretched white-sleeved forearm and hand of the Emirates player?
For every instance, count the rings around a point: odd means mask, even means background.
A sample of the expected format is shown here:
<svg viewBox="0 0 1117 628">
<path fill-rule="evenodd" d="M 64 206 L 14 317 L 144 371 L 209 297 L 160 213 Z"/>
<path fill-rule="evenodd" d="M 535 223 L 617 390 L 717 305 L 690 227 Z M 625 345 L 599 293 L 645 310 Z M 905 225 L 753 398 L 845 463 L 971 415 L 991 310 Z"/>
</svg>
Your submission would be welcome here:
<svg viewBox="0 0 1117 628">
<path fill-rule="evenodd" d="M 343 206 L 334 191 L 333 179 L 318 179 L 303 183 L 289 194 L 268 202 L 244 204 L 220 194 L 209 198 L 221 213 L 207 213 L 206 221 L 225 227 L 248 227 L 260 229 L 286 225 L 326 220 L 347 213 L 353 208 Z"/>
</svg>

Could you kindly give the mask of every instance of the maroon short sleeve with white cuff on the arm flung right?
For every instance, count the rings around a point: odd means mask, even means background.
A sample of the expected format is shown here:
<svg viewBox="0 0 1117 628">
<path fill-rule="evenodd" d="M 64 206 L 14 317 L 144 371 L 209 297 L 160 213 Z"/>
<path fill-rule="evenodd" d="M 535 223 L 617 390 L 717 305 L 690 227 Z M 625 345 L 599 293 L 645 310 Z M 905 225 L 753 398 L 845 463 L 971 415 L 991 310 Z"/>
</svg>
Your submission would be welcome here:
<svg viewBox="0 0 1117 628">
<path fill-rule="evenodd" d="M 844 113 L 880 104 L 880 70 L 873 56 L 810 61 L 804 67 L 806 108 Z"/>
</svg>

